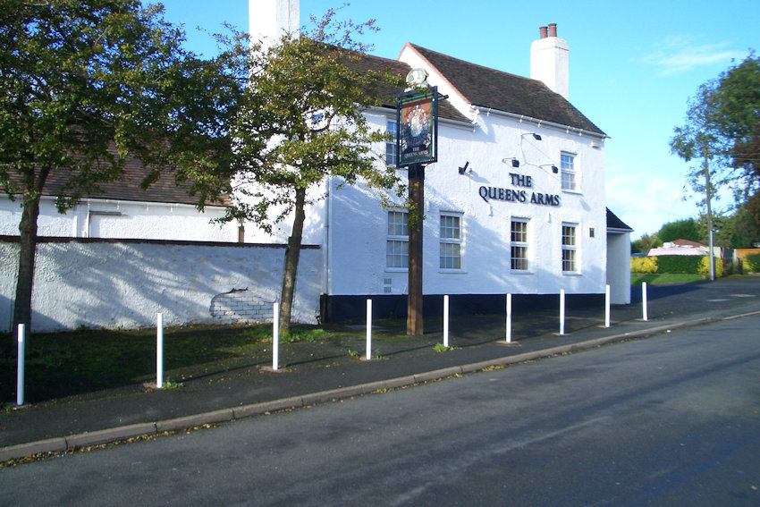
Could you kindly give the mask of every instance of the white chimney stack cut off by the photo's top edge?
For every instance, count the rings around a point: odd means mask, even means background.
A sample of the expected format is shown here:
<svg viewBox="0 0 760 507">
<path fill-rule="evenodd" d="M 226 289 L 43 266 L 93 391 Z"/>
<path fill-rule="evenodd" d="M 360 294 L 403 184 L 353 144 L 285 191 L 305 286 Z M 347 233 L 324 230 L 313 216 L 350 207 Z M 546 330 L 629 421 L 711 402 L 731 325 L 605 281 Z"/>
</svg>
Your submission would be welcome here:
<svg viewBox="0 0 760 507">
<path fill-rule="evenodd" d="M 264 39 L 265 46 L 300 29 L 299 0 L 249 0 L 248 16 L 250 38 Z"/>
</svg>

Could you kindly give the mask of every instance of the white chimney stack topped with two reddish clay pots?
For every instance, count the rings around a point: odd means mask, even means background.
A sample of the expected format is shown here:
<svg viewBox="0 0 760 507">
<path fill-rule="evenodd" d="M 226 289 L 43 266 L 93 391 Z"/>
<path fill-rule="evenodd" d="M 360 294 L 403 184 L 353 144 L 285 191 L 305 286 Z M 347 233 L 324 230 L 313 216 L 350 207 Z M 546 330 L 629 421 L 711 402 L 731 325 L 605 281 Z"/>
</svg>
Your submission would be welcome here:
<svg viewBox="0 0 760 507">
<path fill-rule="evenodd" d="M 538 40 L 530 45 L 530 79 L 544 81 L 562 97 L 570 97 L 570 47 L 557 37 L 556 23 L 541 27 Z"/>
</svg>

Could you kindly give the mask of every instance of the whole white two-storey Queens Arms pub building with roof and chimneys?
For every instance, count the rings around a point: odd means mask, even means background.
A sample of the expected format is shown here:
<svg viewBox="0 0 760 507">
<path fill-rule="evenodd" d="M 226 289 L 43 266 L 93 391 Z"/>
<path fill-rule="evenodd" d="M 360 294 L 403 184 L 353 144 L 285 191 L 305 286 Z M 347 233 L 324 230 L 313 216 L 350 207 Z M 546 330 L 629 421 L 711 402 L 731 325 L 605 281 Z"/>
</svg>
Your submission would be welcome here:
<svg viewBox="0 0 760 507">
<path fill-rule="evenodd" d="M 297 0 L 257 0 L 249 9 L 251 34 L 298 28 Z M 452 312 L 489 312 L 503 311 L 506 293 L 537 303 L 561 290 L 603 295 L 607 283 L 612 303 L 630 301 L 631 230 L 606 208 L 606 135 L 568 100 L 568 44 L 556 25 L 539 33 L 530 79 L 412 43 L 397 61 L 367 56 L 363 63 L 402 74 L 422 69 L 448 96 L 439 106 L 438 161 L 425 175 L 426 313 L 440 312 L 443 294 Z M 368 111 L 367 119 L 398 132 L 394 104 Z M 395 145 L 384 151 L 393 164 Z M 379 314 L 403 315 L 407 210 L 381 207 L 374 191 L 338 189 L 341 183 L 328 179 L 316 192 L 324 199 L 307 213 L 304 242 L 324 256 L 320 314 L 357 318 L 371 297 Z M 289 234 L 284 227 L 279 241 Z"/>
</svg>

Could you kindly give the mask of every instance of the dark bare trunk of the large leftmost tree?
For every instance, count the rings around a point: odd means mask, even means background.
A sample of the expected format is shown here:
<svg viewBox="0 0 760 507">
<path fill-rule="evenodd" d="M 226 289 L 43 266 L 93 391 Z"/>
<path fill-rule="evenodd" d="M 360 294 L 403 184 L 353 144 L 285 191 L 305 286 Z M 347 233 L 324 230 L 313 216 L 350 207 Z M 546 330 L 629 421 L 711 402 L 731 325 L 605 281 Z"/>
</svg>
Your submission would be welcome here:
<svg viewBox="0 0 760 507">
<path fill-rule="evenodd" d="M 39 200 L 25 201 L 19 224 L 20 243 L 19 273 L 16 281 L 16 299 L 13 302 L 13 328 L 11 337 L 16 342 L 19 324 L 25 325 L 26 336 L 31 328 L 31 289 L 34 283 L 34 258 L 37 252 L 37 218 Z M 13 343 L 11 345 L 13 347 Z M 13 349 L 12 349 L 13 350 Z"/>
</svg>

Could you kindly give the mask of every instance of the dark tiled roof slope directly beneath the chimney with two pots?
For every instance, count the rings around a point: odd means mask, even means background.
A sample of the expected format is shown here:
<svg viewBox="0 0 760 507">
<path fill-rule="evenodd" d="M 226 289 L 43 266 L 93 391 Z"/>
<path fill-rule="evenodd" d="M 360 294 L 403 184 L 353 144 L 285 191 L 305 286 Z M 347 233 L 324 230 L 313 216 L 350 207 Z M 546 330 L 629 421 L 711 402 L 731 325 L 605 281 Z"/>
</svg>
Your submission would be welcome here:
<svg viewBox="0 0 760 507">
<path fill-rule="evenodd" d="M 410 44 L 473 106 L 489 107 L 604 135 L 594 123 L 543 82 L 458 60 Z"/>
</svg>

